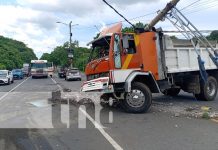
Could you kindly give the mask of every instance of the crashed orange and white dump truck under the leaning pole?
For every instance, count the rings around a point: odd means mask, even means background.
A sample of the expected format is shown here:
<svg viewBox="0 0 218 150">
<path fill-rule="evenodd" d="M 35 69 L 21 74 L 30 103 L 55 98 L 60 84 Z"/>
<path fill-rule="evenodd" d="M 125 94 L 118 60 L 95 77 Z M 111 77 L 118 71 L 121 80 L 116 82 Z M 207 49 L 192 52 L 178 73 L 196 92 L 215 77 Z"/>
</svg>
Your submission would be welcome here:
<svg viewBox="0 0 218 150">
<path fill-rule="evenodd" d="M 192 40 L 172 40 L 154 29 L 137 33 L 121 33 L 120 29 L 121 25 L 107 29 L 90 43 L 92 52 L 82 91 L 103 92 L 104 101 L 112 97 L 131 113 L 146 112 L 152 93 L 176 96 L 183 90 L 198 100 L 216 99 L 217 55 L 211 56 L 204 44 L 193 47 Z M 209 44 L 215 55 L 218 45 Z M 198 57 L 204 63 L 199 64 Z"/>
</svg>

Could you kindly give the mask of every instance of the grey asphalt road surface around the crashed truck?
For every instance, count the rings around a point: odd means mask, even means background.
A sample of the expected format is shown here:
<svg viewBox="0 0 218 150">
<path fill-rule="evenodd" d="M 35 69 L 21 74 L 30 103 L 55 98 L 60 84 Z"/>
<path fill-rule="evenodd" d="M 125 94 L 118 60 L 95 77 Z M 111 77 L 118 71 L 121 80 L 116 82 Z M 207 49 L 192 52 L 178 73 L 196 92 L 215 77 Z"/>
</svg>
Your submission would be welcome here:
<svg viewBox="0 0 218 150">
<path fill-rule="evenodd" d="M 81 84 L 59 78 L 27 78 L 0 86 L 0 149 L 218 150 L 218 123 L 159 110 L 160 104 L 166 109 L 210 106 L 216 110 L 218 98 L 214 102 L 199 102 L 185 93 L 177 98 L 154 95 L 155 105 L 146 114 L 127 114 L 120 108 L 103 109 L 100 113 L 103 127 L 99 128 L 94 126 L 94 110 L 90 107 L 85 114 L 89 119 L 84 129 L 78 128 L 76 108 L 63 104 L 60 124 L 59 105 L 46 103 L 51 92 L 63 88 L 77 95 Z"/>
</svg>

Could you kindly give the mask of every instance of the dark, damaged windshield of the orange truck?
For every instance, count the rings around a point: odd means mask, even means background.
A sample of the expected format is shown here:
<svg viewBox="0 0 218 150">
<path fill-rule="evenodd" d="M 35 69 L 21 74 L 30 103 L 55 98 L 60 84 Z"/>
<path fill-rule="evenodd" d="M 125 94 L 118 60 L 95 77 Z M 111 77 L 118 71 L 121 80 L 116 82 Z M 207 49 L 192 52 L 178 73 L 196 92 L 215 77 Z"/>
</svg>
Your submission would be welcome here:
<svg viewBox="0 0 218 150">
<path fill-rule="evenodd" d="M 110 49 L 110 39 L 111 37 L 102 38 L 99 41 L 93 43 L 92 52 L 89 61 L 93 61 L 96 59 L 101 59 L 103 57 L 109 56 L 109 49 Z"/>
</svg>

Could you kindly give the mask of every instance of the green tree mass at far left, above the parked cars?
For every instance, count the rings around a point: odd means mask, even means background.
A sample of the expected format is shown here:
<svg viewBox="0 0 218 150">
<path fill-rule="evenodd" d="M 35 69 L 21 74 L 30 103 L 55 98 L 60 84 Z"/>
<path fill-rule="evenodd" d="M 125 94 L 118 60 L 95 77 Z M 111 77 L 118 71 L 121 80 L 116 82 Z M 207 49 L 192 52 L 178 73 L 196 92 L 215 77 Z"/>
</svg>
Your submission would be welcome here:
<svg viewBox="0 0 218 150">
<path fill-rule="evenodd" d="M 0 36 L 0 69 L 21 68 L 32 59 L 37 59 L 36 55 L 23 42 Z"/>
</svg>

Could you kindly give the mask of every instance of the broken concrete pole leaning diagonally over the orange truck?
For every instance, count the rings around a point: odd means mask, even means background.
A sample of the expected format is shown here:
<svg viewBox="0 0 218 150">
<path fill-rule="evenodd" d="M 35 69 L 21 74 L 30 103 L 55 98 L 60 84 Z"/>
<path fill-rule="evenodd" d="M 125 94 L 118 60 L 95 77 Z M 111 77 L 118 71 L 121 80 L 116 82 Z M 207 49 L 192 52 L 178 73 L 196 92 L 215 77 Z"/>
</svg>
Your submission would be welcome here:
<svg viewBox="0 0 218 150">
<path fill-rule="evenodd" d="M 166 15 L 167 13 L 172 10 L 173 7 L 175 7 L 177 5 L 177 3 L 179 2 L 180 0 L 172 0 L 171 2 L 169 2 L 167 4 L 167 6 L 161 10 L 158 15 L 145 27 L 145 30 L 147 31 L 150 31 L 152 30 L 152 28 L 160 21 L 162 20 Z"/>
</svg>

